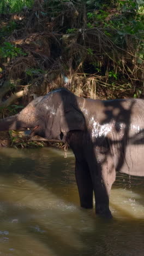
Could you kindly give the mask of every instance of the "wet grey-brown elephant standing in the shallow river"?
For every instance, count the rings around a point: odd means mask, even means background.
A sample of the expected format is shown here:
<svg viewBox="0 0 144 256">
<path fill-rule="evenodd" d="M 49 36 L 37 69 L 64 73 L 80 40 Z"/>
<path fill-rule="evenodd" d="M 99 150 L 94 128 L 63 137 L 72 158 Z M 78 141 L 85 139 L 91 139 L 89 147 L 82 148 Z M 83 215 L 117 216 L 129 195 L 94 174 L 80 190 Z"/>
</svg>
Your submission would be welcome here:
<svg viewBox="0 0 144 256">
<path fill-rule="evenodd" d="M 0 131 L 29 129 L 30 136 L 67 142 L 75 155 L 80 205 L 112 218 L 116 172 L 144 176 L 144 100 L 92 100 L 59 88 L 0 120 Z"/>
</svg>

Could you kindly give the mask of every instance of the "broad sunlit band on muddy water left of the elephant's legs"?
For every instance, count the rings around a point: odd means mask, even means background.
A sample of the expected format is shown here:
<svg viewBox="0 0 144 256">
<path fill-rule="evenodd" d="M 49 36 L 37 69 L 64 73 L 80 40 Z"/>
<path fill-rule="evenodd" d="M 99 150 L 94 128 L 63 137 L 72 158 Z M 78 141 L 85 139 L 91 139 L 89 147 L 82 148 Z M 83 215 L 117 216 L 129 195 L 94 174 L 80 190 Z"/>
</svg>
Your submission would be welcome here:
<svg viewBox="0 0 144 256">
<path fill-rule="evenodd" d="M 42 234 L 44 240 L 49 237 L 66 247 L 80 249 L 85 244 L 81 241 L 79 230 L 82 233 L 93 230 L 93 220 L 80 207 L 65 202 L 58 195 L 17 174 L 10 179 L 1 177 L 0 200 L 1 219 L 13 223 L 16 229 L 18 226 L 25 236 L 30 231 L 36 232 Z M 89 223 L 88 228 L 86 222 Z M 29 237 L 31 241 L 31 236 L 27 235 L 28 240 Z M 32 247 L 34 242 L 37 243 L 32 237 Z M 49 245 L 49 241 L 47 243 Z"/>
</svg>

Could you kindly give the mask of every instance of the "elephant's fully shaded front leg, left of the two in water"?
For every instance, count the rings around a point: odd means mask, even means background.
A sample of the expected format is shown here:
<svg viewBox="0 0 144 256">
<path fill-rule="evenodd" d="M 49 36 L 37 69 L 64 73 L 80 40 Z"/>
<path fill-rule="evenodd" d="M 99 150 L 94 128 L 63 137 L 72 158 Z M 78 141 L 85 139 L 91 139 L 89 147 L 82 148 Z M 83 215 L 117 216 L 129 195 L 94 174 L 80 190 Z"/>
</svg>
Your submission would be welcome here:
<svg viewBox="0 0 144 256">
<path fill-rule="evenodd" d="M 93 183 L 86 161 L 75 163 L 75 177 L 83 208 L 93 208 Z"/>
</svg>

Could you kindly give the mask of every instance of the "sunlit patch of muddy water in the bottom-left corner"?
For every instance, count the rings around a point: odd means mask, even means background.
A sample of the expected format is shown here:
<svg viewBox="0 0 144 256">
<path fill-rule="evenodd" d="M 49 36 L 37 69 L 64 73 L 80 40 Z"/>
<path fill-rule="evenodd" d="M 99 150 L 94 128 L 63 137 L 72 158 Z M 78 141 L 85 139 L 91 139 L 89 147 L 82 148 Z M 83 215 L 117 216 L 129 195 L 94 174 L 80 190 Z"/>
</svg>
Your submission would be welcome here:
<svg viewBox="0 0 144 256">
<path fill-rule="evenodd" d="M 11 222 L 1 223 L 0 254 L 22 256 L 57 255 L 43 241 L 40 241 L 36 236 L 32 236 L 20 223 L 16 224 L 15 219 Z"/>
</svg>

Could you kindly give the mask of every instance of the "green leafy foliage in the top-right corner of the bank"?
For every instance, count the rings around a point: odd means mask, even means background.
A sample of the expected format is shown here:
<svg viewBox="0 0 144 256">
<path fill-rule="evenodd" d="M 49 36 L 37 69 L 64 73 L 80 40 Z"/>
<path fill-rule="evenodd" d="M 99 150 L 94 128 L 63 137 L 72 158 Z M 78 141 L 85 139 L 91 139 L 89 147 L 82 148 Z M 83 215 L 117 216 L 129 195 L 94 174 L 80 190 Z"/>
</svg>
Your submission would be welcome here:
<svg viewBox="0 0 144 256">
<path fill-rule="evenodd" d="M 97 1 L 87 1 L 88 4 L 95 4 Z M 111 1 L 112 2 L 112 1 Z M 87 27 L 93 28 L 103 25 L 105 34 L 109 37 L 113 36 L 116 44 L 124 43 L 127 34 L 134 35 L 138 38 L 144 38 L 144 1 L 129 0 L 116 1 L 118 4 L 117 11 L 109 16 L 108 5 L 101 4 L 97 10 L 87 12 Z M 100 8 L 101 7 L 101 8 Z M 115 31 L 115 33 L 110 31 Z"/>
</svg>

